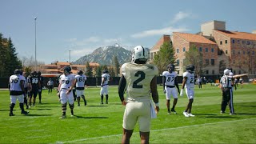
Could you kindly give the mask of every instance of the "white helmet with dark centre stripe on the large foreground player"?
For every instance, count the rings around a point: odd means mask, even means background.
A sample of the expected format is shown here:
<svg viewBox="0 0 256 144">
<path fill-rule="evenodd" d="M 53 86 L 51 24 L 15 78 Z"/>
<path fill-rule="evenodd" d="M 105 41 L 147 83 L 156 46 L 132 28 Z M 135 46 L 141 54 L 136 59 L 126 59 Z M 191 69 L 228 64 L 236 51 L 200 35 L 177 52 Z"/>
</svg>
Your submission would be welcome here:
<svg viewBox="0 0 256 144">
<path fill-rule="evenodd" d="M 139 60 L 141 62 L 146 62 L 148 58 L 150 58 L 150 50 L 148 48 L 144 48 L 143 46 L 135 46 L 134 50 L 132 50 L 131 62 L 135 62 Z"/>
</svg>

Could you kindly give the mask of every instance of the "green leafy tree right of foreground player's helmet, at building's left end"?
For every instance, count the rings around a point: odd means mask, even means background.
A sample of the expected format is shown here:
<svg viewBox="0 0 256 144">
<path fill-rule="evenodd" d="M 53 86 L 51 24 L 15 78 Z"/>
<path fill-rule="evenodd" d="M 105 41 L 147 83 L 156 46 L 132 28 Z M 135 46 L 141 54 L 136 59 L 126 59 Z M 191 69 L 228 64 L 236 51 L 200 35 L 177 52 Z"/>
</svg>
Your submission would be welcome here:
<svg viewBox="0 0 256 144">
<path fill-rule="evenodd" d="M 164 42 L 158 51 L 158 54 L 154 55 L 153 63 L 158 67 L 159 73 L 166 70 L 166 66 L 170 63 L 175 63 L 174 48 L 172 43 Z"/>
</svg>

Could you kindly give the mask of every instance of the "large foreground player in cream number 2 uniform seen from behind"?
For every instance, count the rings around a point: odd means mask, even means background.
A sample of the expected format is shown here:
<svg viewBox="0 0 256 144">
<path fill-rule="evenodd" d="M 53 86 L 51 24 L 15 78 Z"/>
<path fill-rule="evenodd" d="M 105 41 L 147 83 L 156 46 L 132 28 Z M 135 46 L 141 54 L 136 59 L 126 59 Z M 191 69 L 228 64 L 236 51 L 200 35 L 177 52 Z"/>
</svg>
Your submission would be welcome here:
<svg viewBox="0 0 256 144">
<path fill-rule="evenodd" d="M 146 64 L 150 50 L 142 46 L 134 47 L 132 62 L 122 65 L 118 86 L 119 98 L 126 110 L 123 114 L 122 143 L 130 143 L 134 126 L 138 121 L 141 143 L 149 143 L 151 118 L 159 111 L 157 77 L 158 68 Z M 126 89 L 126 100 L 124 92 Z M 152 94 L 152 96 L 151 96 Z M 154 102 L 152 102 L 151 97 Z"/>
</svg>

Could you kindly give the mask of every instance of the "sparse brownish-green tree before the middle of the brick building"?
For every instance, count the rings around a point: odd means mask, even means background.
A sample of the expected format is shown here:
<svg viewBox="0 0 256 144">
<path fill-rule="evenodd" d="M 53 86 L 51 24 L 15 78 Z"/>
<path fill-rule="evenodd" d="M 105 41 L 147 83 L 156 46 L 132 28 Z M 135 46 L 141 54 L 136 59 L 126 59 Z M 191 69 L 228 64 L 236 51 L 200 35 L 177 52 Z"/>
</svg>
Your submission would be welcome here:
<svg viewBox="0 0 256 144">
<path fill-rule="evenodd" d="M 186 51 L 184 59 L 184 66 L 192 64 L 194 65 L 195 74 L 201 75 L 204 69 L 202 53 L 196 46 L 192 45 L 189 51 Z"/>
</svg>

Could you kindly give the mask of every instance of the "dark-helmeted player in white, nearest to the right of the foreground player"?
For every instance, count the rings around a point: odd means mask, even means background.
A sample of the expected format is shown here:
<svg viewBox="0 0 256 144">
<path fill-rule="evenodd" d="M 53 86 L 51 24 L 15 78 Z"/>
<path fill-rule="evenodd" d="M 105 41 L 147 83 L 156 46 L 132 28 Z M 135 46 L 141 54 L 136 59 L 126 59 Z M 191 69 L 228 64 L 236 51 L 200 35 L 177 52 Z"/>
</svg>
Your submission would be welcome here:
<svg viewBox="0 0 256 144">
<path fill-rule="evenodd" d="M 175 111 L 175 106 L 178 101 L 179 87 L 177 82 L 177 73 L 174 71 L 174 69 L 175 69 L 175 66 L 173 64 L 169 64 L 167 66 L 168 71 L 162 72 L 162 86 L 163 86 L 163 93 L 166 94 L 166 106 L 167 106 L 168 114 L 170 114 L 170 112 L 177 114 Z M 178 93 L 175 86 L 178 89 Z M 171 110 L 170 110 L 170 95 L 173 95 L 173 98 L 174 98 L 173 107 L 171 108 Z"/>
</svg>

